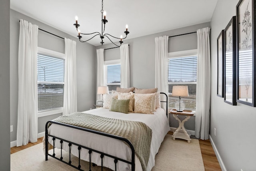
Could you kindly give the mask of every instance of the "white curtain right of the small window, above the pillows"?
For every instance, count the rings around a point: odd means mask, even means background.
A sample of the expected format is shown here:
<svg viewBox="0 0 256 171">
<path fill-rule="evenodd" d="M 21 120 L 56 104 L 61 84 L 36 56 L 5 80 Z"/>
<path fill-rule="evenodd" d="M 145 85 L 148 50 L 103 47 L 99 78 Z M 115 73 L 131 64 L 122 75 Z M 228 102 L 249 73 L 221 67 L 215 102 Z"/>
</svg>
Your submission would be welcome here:
<svg viewBox="0 0 256 171">
<path fill-rule="evenodd" d="M 120 58 L 121 58 L 121 87 L 130 87 L 130 60 L 129 60 L 129 45 L 122 44 L 120 46 Z"/>
</svg>

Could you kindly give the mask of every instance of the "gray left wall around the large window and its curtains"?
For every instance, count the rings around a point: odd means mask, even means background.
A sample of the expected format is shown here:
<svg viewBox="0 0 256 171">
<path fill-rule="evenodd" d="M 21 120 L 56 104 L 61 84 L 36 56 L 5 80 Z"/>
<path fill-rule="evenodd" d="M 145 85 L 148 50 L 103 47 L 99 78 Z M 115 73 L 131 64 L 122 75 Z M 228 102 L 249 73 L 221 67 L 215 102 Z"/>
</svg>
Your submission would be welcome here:
<svg viewBox="0 0 256 171">
<path fill-rule="evenodd" d="M 76 41 L 76 67 L 77 67 L 77 109 L 78 111 L 89 110 L 95 103 L 95 66 L 96 48 L 88 43 L 81 43 L 77 38 L 52 28 L 42 22 L 34 20 L 14 10 L 10 10 L 10 125 L 13 125 L 10 141 L 16 140 L 17 134 L 17 110 L 18 110 L 18 40 L 20 23 L 19 20 L 27 20 L 36 24 L 40 29 L 56 34 L 62 38 L 70 38 Z M 9 28 L 8 28 L 9 29 Z M 2 33 L 2 32 L 1 32 Z M 4 32 L 6 34 L 6 32 Z M 6 34 L 7 35 L 7 34 Z M 64 53 L 65 44 L 62 38 L 58 38 L 41 30 L 38 30 L 38 46 Z M 46 121 L 58 117 L 60 114 L 38 118 L 38 133 L 44 132 Z M 9 126 L 8 126 L 9 127 Z M 10 143 L 10 142 L 9 142 Z M 9 144 L 10 146 L 10 144 Z"/>
</svg>

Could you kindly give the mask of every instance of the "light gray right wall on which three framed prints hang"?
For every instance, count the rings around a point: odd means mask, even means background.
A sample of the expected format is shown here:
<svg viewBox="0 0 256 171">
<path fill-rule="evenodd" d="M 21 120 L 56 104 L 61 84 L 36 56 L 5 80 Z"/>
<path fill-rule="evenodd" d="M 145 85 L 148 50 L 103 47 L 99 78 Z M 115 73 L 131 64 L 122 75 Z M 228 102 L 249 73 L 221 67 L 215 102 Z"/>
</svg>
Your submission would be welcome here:
<svg viewBox="0 0 256 171">
<path fill-rule="evenodd" d="M 224 102 L 217 94 L 217 37 L 232 16 L 238 0 L 218 0 L 211 20 L 210 135 L 228 171 L 256 169 L 256 107 Z M 254 28 L 255 29 L 255 28 Z M 216 128 L 216 136 L 214 136 Z"/>
</svg>

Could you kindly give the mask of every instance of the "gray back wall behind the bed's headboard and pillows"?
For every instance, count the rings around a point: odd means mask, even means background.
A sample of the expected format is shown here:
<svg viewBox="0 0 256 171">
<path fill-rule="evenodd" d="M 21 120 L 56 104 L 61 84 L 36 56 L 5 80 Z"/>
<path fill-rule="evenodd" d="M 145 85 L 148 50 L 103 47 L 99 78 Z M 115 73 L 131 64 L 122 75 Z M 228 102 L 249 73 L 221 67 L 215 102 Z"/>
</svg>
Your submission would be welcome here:
<svg viewBox="0 0 256 171">
<path fill-rule="evenodd" d="M 196 24 L 175 30 L 169 30 L 139 38 L 124 40 L 124 44 L 129 44 L 130 53 L 130 86 L 137 88 L 155 87 L 155 38 L 159 36 L 175 36 L 184 33 L 196 32 L 200 28 L 210 27 L 210 22 Z M 130 33 L 132 34 L 132 33 Z M 129 35 L 128 35 L 129 37 Z M 114 45 L 106 44 L 106 48 L 113 48 Z M 97 46 L 96 49 L 102 48 Z M 171 37 L 168 39 L 168 52 L 177 52 L 183 50 L 197 49 L 196 33 L 183 36 Z M 104 60 L 120 59 L 120 49 L 114 48 L 104 51 Z M 178 121 L 170 117 L 170 127 L 178 127 Z M 195 130 L 195 118 L 191 117 L 185 127 L 189 130 Z"/>
</svg>

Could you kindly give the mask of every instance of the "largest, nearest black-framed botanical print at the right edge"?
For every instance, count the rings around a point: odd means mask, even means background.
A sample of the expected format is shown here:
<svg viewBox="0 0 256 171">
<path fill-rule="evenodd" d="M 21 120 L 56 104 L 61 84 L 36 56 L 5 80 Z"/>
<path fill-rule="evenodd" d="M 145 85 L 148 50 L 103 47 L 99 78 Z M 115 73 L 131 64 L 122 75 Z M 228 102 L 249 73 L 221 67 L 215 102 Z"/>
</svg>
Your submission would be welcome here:
<svg viewBox="0 0 256 171">
<path fill-rule="evenodd" d="M 254 0 L 240 0 L 236 6 L 237 102 L 256 107 L 256 53 Z"/>
</svg>

